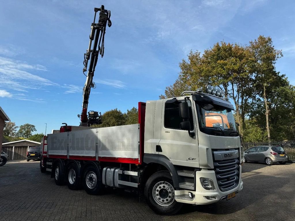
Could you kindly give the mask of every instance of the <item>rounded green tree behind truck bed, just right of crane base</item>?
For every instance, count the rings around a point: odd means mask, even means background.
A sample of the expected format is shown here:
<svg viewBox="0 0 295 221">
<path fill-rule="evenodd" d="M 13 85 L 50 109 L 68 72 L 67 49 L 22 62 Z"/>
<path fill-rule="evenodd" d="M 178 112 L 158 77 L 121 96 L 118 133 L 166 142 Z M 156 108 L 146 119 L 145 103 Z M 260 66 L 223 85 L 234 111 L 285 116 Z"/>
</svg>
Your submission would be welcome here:
<svg viewBox="0 0 295 221">
<path fill-rule="evenodd" d="M 125 124 L 126 114 L 123 114 L 121 110 L 116 108 L 108 110 L 102 115 L 102 124 L 99 124 L 98 127 L 112 127 Z"/>
</svg>

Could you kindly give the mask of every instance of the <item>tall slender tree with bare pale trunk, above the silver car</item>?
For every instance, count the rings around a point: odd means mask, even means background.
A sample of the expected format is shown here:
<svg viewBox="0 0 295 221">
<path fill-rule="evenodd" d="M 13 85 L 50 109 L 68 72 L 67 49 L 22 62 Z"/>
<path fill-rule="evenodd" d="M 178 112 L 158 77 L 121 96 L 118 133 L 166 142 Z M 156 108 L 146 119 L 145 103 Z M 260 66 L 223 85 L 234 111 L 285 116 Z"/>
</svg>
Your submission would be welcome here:
<svg viewBox="0 0 295 221">
<path fill-rule="evenodd" d="M 264 101 L 266 116 L 266 131 L 268 141 L 271 140 L 269 125 L 269 99 L 278 83 L 279 72 L 276 71 L 276 61 L 283 56 L 282 50 L 276 50 L 271 37 L 260 35 L 258 39 L 250 41 L 249 46 L 255 57 L 255 85 L 253 89 Z"/>
</svg>

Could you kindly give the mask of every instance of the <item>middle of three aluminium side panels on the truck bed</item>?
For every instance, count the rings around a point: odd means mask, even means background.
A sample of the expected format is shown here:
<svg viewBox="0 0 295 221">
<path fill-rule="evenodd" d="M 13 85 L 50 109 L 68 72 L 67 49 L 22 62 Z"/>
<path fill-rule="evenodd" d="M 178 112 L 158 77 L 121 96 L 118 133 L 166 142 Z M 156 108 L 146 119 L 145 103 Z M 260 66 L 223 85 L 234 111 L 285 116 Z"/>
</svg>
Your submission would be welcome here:
<svg viewBox="0 0 295 221">
<path fill-rule="evenodd" d="M 96 128 L 69 132 L 70 156 L 95 156 Z"/>
</svg>

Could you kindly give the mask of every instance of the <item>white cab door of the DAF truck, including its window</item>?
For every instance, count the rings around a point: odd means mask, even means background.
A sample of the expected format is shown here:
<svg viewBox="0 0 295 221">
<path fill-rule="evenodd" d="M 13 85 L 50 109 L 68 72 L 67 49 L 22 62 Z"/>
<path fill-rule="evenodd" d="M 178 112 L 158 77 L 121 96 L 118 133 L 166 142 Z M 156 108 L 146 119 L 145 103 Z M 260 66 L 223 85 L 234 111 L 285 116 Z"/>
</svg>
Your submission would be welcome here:
<svg viewBox="0 0 295 221">
<path fill-rule="evenodd" d="M 188 131 L 180 129 L 182 118 L 179 116 L 179 104 L 181 102 L 184 102 L 184 97 L 183 100 L 163 103 L 161 139 L 158 145 L 158 153 L 170 159 L 173 165 L 199 167 L 194 102 L 187 99 L 191 132 L 195 133 L 194 137 L 190 137 Z"/>
</svg>

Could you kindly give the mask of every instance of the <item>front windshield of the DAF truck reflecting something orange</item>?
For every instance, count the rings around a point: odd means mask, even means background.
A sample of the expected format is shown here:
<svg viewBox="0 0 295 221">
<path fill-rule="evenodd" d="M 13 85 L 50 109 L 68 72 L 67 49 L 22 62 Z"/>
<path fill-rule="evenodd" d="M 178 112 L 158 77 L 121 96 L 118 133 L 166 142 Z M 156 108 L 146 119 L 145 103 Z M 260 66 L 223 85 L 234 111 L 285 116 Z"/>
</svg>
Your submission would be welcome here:
<svg viewBox="0 0 295 221">
<path fill-rule="evenodd" d="M 200 130 L 217 136 L 239 136 L 232 110 L 214 104 L 198 104 Z"/>
</svg>

